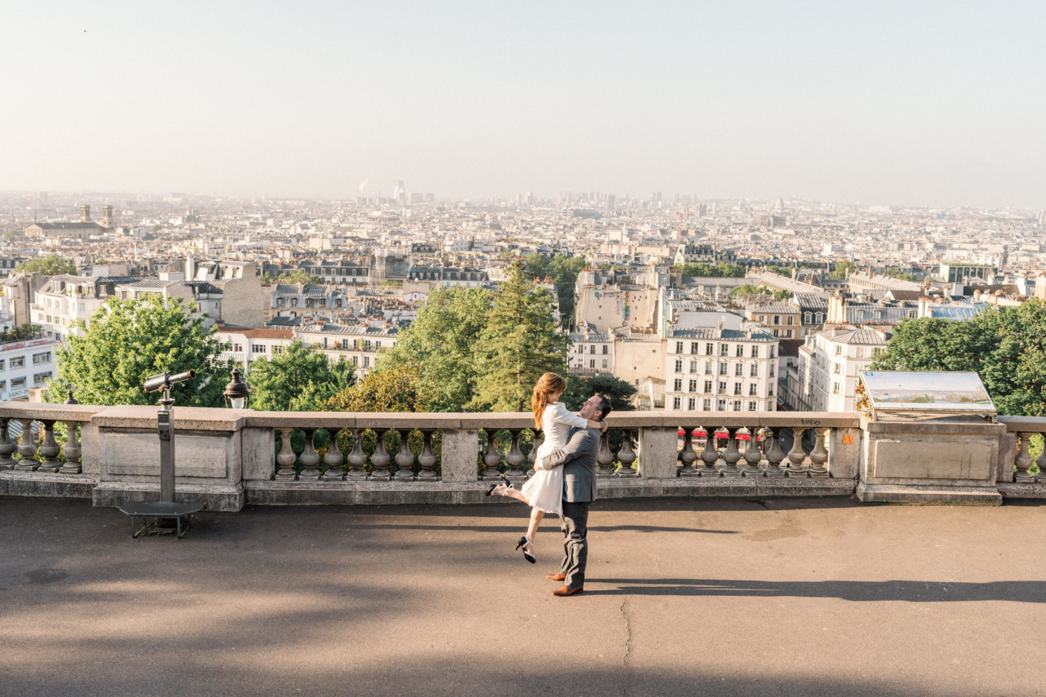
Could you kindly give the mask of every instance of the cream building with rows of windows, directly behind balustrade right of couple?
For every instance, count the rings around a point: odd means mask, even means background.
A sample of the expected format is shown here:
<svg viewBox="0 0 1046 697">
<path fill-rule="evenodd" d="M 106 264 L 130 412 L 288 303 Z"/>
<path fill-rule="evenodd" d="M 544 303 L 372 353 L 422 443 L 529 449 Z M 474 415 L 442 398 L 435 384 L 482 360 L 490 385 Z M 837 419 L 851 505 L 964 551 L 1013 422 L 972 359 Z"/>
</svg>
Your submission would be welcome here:
<svg viewBox="0 0 1046 697">
<path fill-rule="evenodd" d="M 674 331 L 665 412 L 776 411 L 777 340 L 761 330 Z"/>
</svg>

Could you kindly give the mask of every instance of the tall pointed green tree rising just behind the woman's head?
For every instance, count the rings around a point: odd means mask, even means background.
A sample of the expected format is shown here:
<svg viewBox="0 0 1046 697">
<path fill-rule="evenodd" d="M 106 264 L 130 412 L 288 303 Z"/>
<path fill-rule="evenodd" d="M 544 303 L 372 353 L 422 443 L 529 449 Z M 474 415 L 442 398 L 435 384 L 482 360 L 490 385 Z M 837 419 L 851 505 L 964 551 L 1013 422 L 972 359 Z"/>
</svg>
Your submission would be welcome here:
<svg viewBox="0 0 1046 697">
<path fill-rule="evenodd" d="M 556 331 L 548 291 L 513 264 L 476 345 L 477 389 L 471 405 L 524 411 L 538 378 L 549 371 L 563 373 L 569 347 L 570 338 Z"/>
</svg>

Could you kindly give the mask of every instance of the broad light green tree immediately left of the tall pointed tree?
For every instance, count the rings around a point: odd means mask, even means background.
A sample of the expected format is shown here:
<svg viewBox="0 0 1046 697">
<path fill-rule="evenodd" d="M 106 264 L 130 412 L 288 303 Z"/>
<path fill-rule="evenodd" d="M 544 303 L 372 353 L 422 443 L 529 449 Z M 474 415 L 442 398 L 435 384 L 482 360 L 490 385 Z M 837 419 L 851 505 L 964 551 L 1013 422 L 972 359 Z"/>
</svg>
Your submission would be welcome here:
<svg viewBox="0 0 1046 697">
<path fill-rule="evenodd" d="M 400 334 L 395 348 L 382 356 L 376 372 L 416 367 L 432 388 L 431 411 L 464 411 L 475 397 L 474 350 L 493 300 L 494 294 L 482 288 L 436 288 Z"/>
</svg>

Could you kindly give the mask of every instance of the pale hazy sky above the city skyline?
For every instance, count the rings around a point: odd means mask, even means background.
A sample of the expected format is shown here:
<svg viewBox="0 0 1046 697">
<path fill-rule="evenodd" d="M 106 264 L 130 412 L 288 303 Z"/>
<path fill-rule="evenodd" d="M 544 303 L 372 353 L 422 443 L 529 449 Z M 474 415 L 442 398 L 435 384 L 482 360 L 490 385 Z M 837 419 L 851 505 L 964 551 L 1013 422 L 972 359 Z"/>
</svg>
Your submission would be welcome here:
<svg viewBox="0 0 1046 697">
<path fill-rule="evenodd" d="M 1046 207 L 1042 2 L 0 7 L 0 188 Z"/>
</svg>

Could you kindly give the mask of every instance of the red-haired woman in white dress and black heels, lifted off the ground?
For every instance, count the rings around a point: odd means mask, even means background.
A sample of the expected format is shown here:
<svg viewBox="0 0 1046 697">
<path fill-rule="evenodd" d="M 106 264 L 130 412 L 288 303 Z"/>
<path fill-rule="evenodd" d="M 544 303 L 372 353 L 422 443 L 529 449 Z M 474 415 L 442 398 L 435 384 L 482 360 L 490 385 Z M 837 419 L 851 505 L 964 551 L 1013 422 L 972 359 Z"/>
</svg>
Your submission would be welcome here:
<svg viewBox="0 0 1046 697">
<path fill-rule="evenodd" d="M 542 469 L 543 457 L 567 444 L 567 435 L 573 427 L 607 429 L 606 421 L 591 421 L 567 411 L 560 401 L 560 396 L 567 389 L 567 381 L 555 373 L 545 373 L 533 386 L 530 397 L 530 408 L 533 410 L 533 423 L 545 434 L 545 442 L 538 448 L 535 461 L 535 473 L 519 491 L 511 483 L 501 477 L 503 484 L 492 485 L 486 494 L 499 493 L 502 496 L 519 498 L 531 507 L 530 526 L 526 535 L 520 537 L 516 549 L 523 548 L 523 557 L 531 564 L 538 561 L 533 556 L 533 539 L 538 534 L 538 526 L 545 513 L 563 514 L 563 468 Z"/>
</svg>

